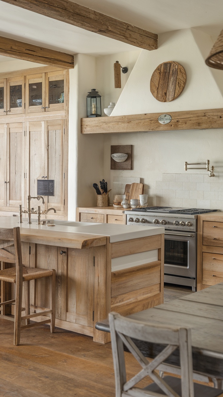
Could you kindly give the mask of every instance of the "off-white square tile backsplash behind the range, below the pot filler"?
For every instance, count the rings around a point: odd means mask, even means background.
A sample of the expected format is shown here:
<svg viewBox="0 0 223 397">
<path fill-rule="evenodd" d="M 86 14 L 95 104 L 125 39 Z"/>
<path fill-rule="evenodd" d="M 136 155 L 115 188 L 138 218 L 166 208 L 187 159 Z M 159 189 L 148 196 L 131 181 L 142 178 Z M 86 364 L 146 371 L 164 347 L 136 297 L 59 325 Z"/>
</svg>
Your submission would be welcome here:
<svg viewBox="0 0 223 397">
<path fill-rule="evenodd" d="M 223 179 L 208 173 L 163 173 L 156 189 L 149 189 L 148 205 L 211 208 L 223 211 Z"/>
</svg>

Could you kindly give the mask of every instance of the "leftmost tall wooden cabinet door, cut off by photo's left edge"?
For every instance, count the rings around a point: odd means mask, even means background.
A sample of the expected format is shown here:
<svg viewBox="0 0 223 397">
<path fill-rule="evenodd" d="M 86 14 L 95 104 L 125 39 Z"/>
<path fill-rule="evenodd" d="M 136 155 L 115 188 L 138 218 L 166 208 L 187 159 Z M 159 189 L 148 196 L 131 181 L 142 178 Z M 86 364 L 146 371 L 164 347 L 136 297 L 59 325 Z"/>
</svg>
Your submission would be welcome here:
<svg viewBox="0 0 223 397">
<path fill-rule="evenodd" d="M 6 206 L 7 191 L 7 124 L 0 124 L 0 206 Z"/>
</svg>

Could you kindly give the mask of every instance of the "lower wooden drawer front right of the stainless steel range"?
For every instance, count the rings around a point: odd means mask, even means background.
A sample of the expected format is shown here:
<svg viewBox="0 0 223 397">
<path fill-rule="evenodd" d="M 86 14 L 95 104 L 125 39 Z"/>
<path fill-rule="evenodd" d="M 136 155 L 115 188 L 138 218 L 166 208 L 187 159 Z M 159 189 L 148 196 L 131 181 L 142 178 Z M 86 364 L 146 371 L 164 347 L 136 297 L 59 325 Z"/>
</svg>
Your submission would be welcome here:
<svg viewBox="0 0 223 397">
<path fill-rule="evenodd" d="M 223 282 L 223 254 L 203 252 L 203 279 L 205 285 L 215 285 Z"/>
</svg>

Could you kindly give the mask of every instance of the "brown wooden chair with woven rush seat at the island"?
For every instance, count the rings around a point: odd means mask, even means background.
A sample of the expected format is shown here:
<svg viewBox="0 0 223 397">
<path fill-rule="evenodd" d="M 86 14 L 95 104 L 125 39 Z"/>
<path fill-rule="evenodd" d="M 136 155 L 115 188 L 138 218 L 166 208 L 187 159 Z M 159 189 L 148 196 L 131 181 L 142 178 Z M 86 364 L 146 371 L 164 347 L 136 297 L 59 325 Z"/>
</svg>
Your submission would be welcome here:
<svg viewBox="0 0 223 397">
<path fill-rule="evenodd" d="M 39 268 L 28 268 L 22 264 L 21 254 L 21 240 L 20 240 L 20 228 L 14 227 L 13 229 L 2 229 L 0 228 L 0 261 L 2 266 L 0 270 L 0 281 L 7 281 L 9 283 L 16 283 L 16 296 L 15 299 L 0 303 L 1 314 L 0 318 L 14 321 L 14 345 L 19 345 L 20 341 L 20 330 L 25 328 L 31 328 L 40 324 L 50 323 L 50 331 L 54 332 L 55 326 L 55 293 L 56 293 L 56 272 L 54 269 L 45 270 Z M 10 267 L 4 269 L 4 262 L 10 264 L 16 264 L 16 267 Z M 30 314 L 30 303 L 29 303 L 29 281 L 49 277 L 50 279 L 50 309 L 45 311 Z M 24 281 L 24 292 L 25 292 L 25 316 L 21 317 L 22 311 L 22 287 Z M 3 314 L 3 307 L 6 304 L 12 304 L 15 302 L 15 316 L 14 319 L 10 316 Z M 29 324 L 30 318 L 47 315 L 50 319 L 45 321 L 35 322 Z M 21 326 L 21 320 L 25 320 L 26 325 Z"/>
</svg>

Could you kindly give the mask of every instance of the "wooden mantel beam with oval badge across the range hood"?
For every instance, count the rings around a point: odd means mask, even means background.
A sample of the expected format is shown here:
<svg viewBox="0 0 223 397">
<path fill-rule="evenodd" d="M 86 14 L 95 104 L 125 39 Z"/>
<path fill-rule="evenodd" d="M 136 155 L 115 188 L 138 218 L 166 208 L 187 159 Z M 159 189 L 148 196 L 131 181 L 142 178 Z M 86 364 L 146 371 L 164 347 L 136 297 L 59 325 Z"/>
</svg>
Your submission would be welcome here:
<svg viewBox="0 0 223 397">
<path fill-rule="evenodd" d="M 82 118 L 81 134 L 223 128 L 223 108 L 168 112 L 172 117 L 169 124 L 159 123 L 158 117 L 161 114 L 162 112 L 131 114 L 128 116 Z"/>
</svg>

